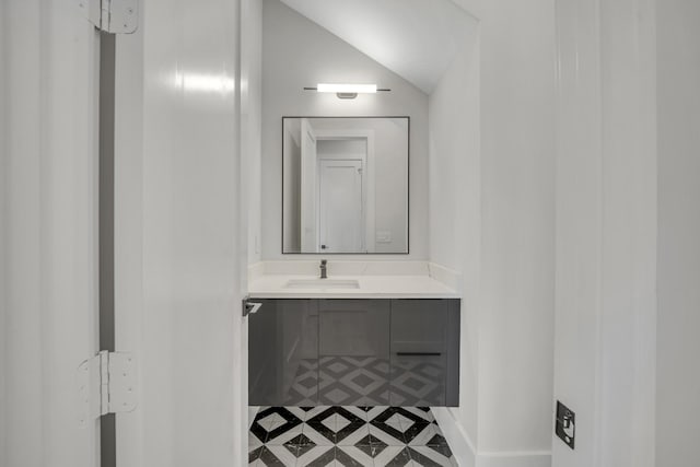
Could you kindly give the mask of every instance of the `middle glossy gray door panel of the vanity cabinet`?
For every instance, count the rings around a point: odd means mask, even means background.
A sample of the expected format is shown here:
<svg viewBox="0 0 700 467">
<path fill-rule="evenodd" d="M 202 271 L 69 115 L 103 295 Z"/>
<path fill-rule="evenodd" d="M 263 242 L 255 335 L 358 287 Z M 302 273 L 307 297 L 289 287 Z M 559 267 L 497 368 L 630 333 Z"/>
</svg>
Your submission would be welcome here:
<svg viewBox="0 0 700 467">
<path fill-rule="evenodd" d="M 389 402 L 388 300 L 319 300 L 320 405 Z"/>
</svg>

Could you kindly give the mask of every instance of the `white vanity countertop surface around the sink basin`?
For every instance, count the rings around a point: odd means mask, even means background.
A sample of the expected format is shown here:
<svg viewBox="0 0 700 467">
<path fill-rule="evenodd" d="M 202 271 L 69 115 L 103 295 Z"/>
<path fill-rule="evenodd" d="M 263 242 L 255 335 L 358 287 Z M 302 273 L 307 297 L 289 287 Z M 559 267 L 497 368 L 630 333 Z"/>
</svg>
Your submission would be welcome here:
<svg viewBox="0 0 700 467">
<path fill-rule="evenodd" d="M 305 275 L 261 275 L 248 284 L 252 299 L 459 299 L 460 294 L 430 276 L 331 276 L 331 280 L 357 280 L 358 289 L 289 289 L 290 280 L 318 279 Z"/>
</svg>

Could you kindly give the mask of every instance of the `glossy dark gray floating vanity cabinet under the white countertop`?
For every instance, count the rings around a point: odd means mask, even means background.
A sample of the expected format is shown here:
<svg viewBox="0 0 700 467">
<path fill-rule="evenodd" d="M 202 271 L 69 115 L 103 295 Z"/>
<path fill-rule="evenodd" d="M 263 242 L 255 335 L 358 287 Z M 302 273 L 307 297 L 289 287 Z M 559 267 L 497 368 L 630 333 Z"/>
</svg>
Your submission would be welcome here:
<svg viewBox="0 0 700 467">
<path fill-rule="evenodd" d="M 457 406 L 459 300 L 258 300 L 254 406 Z"/>
</svg>

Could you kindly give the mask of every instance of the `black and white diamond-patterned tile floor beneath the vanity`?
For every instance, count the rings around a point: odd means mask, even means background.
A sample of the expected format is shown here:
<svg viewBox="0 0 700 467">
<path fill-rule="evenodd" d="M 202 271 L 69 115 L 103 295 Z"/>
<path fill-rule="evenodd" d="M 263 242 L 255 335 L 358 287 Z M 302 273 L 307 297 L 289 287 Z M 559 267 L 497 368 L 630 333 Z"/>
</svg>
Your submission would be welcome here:
<svg viewBox="0 0 700 467">
<path fill-rule="evenodd" d="M 250 466 L 456 466 L 427 407 L 264 407 Z"/>
</svg>

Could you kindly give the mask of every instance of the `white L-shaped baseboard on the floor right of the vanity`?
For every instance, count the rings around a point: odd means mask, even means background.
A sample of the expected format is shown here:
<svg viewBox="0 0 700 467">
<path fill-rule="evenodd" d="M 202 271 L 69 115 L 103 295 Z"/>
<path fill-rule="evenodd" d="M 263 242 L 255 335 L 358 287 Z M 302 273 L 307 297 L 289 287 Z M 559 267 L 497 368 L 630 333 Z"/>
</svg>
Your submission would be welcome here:
<svg viewBox="0 0 700 467">
<path fill-rule="evenodd" d="M 551 452 L 477 452 L 466 430 L 451 409 L 432 411 L 459 467 L 551 467 Z"/>
</svg>

